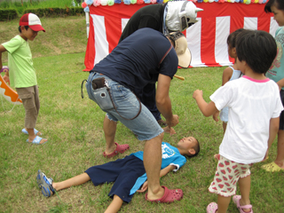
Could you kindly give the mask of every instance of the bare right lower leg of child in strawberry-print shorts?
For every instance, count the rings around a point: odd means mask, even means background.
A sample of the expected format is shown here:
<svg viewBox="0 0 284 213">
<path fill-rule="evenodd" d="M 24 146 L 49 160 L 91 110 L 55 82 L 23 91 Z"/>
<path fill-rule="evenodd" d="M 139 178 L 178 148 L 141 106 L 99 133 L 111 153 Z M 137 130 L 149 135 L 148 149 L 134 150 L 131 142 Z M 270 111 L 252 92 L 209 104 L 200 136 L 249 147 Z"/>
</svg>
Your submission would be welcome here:
<svg viewBox="0 0 284 213">
<path fill-rule="evenodd" d="M 238 184 L 241 191 L 240 206 L 249 205 L 249 191 L 250 191 L 250 175 L 239 179 Z M 242 209 L 245 212 L 249 212 L 250 209 Z"/>
</svg>

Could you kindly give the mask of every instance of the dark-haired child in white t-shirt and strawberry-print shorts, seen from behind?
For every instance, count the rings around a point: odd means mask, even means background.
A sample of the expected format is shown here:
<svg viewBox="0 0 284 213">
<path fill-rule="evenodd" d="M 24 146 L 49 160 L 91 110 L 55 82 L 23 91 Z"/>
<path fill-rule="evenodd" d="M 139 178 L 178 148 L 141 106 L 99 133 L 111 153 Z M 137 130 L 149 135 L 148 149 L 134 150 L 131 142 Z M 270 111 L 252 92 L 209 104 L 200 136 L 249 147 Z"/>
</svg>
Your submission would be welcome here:
<svg viewBox="0 0 284 213">
<path fill-rule="evenodd" d="M 278 85 L 265 77 L 277 52 L 273 37 L 264 31 L 244 30 L 237 36 L 236 51 L 241 78 L 215 91 L 209 104 L 202 98 L 202 91 L 193 92 L 193 99 L 205 116 L 229 107 L 217 171 L 209 186 L 209 192 L 218 195 L 217 203 L 209 204 L 208 213 L 226 212 L 236 183 L 241 196 L 233 196 L 233 202 L 241 213 L 253 212 L 249 201 L 249 167 L 264 160 L 278 132 L 283 110 Z"/>
</svg>

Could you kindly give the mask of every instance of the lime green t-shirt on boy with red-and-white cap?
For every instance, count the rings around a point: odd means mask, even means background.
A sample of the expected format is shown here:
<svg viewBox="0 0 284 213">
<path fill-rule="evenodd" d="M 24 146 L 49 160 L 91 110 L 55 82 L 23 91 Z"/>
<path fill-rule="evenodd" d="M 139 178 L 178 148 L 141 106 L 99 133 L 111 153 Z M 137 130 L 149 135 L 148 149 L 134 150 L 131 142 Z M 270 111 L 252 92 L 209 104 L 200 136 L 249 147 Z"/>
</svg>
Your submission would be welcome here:
<svg viewBox="0 0 284 213">
<path fill-rule="evenodd" d="M 28 42 L 18 35 L 2 45 L 8 51 L 11 86 L 15 88 L 35 86 L 36 70 Z"/>
</svg>

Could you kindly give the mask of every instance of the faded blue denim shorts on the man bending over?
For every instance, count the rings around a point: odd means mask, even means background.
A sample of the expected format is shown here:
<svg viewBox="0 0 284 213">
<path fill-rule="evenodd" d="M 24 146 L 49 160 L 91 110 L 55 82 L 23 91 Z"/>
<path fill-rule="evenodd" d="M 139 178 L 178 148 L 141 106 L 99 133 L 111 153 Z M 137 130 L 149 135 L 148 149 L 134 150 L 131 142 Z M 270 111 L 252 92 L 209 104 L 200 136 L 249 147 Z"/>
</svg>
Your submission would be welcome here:
<svg viewBox="0 0 284 213">
<path fill-rule="evenodd" d="M 93 90 L 91 82 L 93 79 L 104 77 L 106 84 L 110 90 L 110 99 L 106 87 Z M 140 102 L 130 89 L 124 87 L 122 84 L 114 82 L 106 75 L 91 72 L 86 83 L 89 98 L 95 101 L 99 107 L 106 112 L 109 120 L 122 122 L 129 128 L 139 140 L 149 140 L 162 134 L 163 130 L 159 123 L 154 118 L 154 115 Z M 115 106 L 115 108 L 114 108 Z M 134 118 L 136 115 L 138 116 Z M 133 120 L 127 119 L 134 118 Z"/>
</svg>

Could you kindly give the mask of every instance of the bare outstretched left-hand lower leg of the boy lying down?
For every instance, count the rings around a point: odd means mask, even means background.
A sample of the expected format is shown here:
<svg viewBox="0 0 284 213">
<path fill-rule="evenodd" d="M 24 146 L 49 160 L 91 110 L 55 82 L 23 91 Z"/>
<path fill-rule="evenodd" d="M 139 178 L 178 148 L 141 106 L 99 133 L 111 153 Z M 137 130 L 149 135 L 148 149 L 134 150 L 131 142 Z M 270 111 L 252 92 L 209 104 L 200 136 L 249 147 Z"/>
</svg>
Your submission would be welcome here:
<svg viewBox="0 0 284 213">
<path fill-rule="evenodd" d="M 67 180 L 64 180 L 62 182 L 53 182 L 52 186 L 56 191 L 59 191 L 61 189 L 65 189 L 65 188 L 69 188 L 73 185 L 82 185 L 86 182 L 88 182 L 89 180 L 91 180 L 91 178 L 89 177 L 89 175 L 87 173 L 83 173 L 81 175 L 75 176 L 75 177 L 71 177 Z"/>
</svg>

